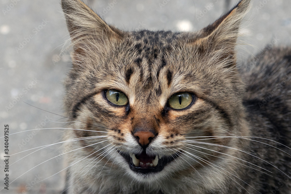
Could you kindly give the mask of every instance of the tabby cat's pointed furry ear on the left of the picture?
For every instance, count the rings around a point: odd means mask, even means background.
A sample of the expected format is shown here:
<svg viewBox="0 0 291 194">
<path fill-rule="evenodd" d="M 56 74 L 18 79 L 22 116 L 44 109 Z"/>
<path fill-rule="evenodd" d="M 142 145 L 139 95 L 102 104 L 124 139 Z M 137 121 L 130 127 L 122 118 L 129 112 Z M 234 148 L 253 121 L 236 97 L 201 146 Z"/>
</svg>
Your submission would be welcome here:
<svg viewBox="0 0 291 194">
<path fill-rule="evenodd" d="M 122 32 L 110 27 L 80 0 L 62 0 L 68 31 L 74 51 L 73 64 L 83 63 L 84 55 L 98 53 L 119 40 Z"/>
</svg>

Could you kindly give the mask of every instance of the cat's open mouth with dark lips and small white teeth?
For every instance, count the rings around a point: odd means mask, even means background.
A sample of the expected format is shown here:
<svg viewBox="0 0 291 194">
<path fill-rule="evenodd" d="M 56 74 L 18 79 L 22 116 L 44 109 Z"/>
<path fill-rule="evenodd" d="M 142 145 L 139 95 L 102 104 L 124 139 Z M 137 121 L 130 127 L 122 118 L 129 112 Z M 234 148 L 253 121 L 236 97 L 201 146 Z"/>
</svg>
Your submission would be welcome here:
<svg viewBox="0 0 291 194">
<path fill-rule="evenodd" d="M 129 168 L 132 171 L 141 173 L 160 172 L 168 163 L 179 156 L 178 153 L 172 156 L 149 156 L 145 151 L 141 154 L 123 153 L 120 151 L 118 153 L 129 163 Z"/>
</svg>

